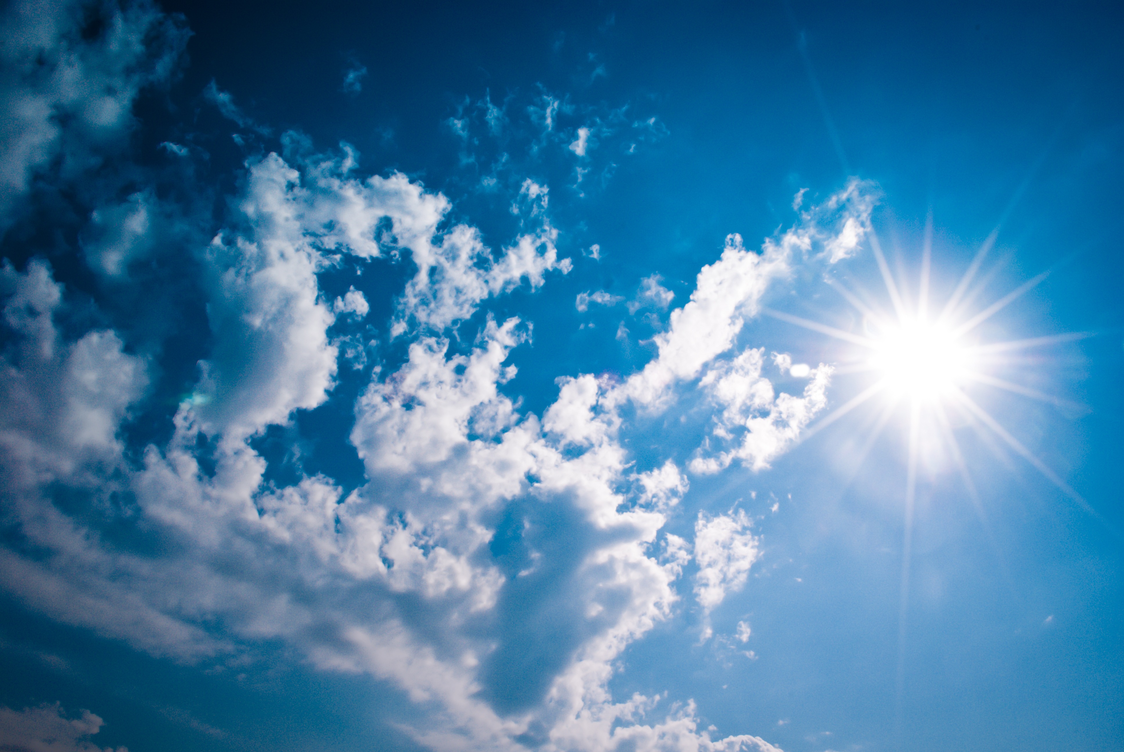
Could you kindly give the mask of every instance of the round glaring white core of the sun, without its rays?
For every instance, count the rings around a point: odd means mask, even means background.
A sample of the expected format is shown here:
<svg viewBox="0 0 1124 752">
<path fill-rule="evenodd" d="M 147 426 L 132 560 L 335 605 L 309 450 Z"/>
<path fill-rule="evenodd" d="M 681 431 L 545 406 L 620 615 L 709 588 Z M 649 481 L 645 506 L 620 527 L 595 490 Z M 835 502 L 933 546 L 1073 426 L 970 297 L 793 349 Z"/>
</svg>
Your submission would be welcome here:
<svg viewBox="0 0 1124 752">
<path fill-rule="evenodd" d="M 874 338 L 871 368 L 891 396 L 930 401 L 949 396 L 968 373 L 967 351 L 948 326 L 924 319 L 899 320 Z"/>
</svg>

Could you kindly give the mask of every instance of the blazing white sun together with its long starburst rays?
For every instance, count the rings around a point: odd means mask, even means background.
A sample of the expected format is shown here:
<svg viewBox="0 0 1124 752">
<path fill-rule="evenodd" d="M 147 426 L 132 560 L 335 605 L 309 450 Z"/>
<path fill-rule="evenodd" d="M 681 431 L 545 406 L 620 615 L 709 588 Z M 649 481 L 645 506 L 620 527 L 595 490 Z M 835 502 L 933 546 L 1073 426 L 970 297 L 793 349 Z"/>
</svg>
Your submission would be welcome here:
<svg viewBox="0 0 1124 752">
<path fill-rule="evenodd" d="M 853 345 L 851 356 L 847 361 L 839 364 L 837 372 L 861 373 L 869 378 L 869 383 L 864 389 L 813 425 L 801 441 L 807 441 L 862 406 L 877 405 L 876 398 L 881 398 L 881 407 L 873 429 L 860 453 L 860 457 L 864 457 L 895 413 L 904 410 L 908 416 L 905 422 L 907 426 L 907 463 L 903 499 L 905 525 L 899 594 L 896 692 L 899 723 L 905 676 L 906 615 L 909 595 L 914 505 L 918 463 L 923 459 L 923 445 L 940 446 L 944 450 L 944 454 L 952 460 L 989 538 L 991 538 L 990 526 L 964 460 L 964 453 L 961 451 L 953 432 L 953 418 L 975 428 L 982 438 L 989 440 L 991 444 L 996 444 L 995 440 L 997 438 L 998 443 L 1005 444 L 1025 460 L 1085 511 L 1105 524 L 1100 515 L 1080 493 L 968 393 L 970 387 L 985 386 L 1057 406 L 1072 405 L 1032 387 L 1004 379 L 999 374 L 1017 359 L 1025 356 L 1025 351 L 1049 347 L 1089 336 L 1089 333 L 1067 333 L 1013 341 L 980 341 L 981 324 L 1040 284 L 1050 273 L 1049 271 L 1043 272 L 1010 292 L 977 306 L 976 301 L 982 297 L 987 283 L 998 269 L 995 266 L 989 273 L 980 275 L 984 262 L 995 244 L 996 235 L 997 233 L 992 233 L 980 246 L 953 292 L 935 312 L 931 310 L 930 290 L 931 219 L 926 223 L 921 274 L 915 295 L 910 295 L 910 290 L 905 283 L 895 280 L 878 236 L 873 232 L 870 235 L 871 250 L 881 273 L 886 296 L 890 302 L 889 312 L 880 311 L 876 306 L 869 305 L 843 284 L 831 282 L 861 315 L 862 333 L 846 332 L 782 311 L 771 309 L 764 311 L 774 318 Z M 923 440 L 925 441 L 923 442 Z M 995 546 L 994 538 L 991 538 L 991 543 Z M 998 549 L 996 553 L 998 554 Z"/>
</svg>

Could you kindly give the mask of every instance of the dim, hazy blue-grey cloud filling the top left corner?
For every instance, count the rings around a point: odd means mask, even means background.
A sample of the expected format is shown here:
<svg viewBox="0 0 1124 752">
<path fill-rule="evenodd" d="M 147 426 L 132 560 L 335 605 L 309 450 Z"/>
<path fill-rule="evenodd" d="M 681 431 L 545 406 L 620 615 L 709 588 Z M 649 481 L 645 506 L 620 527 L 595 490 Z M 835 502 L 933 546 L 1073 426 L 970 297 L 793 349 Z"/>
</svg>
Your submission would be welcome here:
<svg viewBox="0 0 1124 752">
<path fill-rule="evenodd" d="M 0 219 L 56 157 L 72 176 L 121 145 L 137 93 L 167 81 L 187 39 L 180 20 L 144 0 L 9 3 L 0 19 Z"/>
</svg>

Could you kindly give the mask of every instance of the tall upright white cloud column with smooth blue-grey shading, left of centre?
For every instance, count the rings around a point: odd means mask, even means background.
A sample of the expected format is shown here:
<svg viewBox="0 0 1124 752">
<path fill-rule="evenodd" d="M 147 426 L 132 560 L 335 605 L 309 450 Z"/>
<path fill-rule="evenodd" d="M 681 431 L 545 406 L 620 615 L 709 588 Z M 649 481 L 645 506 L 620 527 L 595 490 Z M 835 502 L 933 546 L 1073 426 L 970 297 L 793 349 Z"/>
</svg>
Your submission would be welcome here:
<svg viewBox="0 0 1124 752">
<path fill-rule="evenodd" d="M 215 352 L 184 404 L 208 434 L 241 442 L 321 404 L 336 372 L 319 301 L 320 259 L 301 223 L 299 173 L 275 154 L 252 165 L 238 208 L 245 229 L 219 233 L 203 256 Z"/>
</svg>

